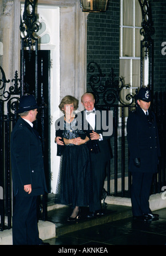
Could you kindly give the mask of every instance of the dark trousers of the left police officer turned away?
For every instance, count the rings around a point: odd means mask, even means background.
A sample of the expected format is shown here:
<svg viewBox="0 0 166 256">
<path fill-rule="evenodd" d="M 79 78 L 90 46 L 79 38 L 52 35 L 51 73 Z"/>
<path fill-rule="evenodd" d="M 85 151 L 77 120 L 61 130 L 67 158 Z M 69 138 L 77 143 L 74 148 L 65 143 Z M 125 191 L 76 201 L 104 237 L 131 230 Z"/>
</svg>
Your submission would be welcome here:
<svg viewBox="0 0 166 256">
<path fill-rule="evenodd" d="M 12 232 L 13 245 L 37 245 L 42 242 L 37 222 L 37 197 L 16 195 Z"/>
</svg>

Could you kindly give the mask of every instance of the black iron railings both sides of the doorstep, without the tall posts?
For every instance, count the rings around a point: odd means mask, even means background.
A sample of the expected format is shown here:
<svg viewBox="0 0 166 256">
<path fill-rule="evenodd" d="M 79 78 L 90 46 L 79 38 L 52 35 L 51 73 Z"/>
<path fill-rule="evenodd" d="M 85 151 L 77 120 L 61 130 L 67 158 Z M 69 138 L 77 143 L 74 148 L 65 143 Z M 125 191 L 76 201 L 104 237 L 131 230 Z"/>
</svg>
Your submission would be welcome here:
<svg viewBox="0 0 166 256">
<path fill-rule="evenodd" d="M 0 67 L 1 71 L 3 69 Z M 3 72 L 2 72 L 3 73 Z M 98 77 L 98 75 L 97 75 Z M 118 104 L 118 97 L 123 87 L 119 86 L 117 81 L 115 81 L 115 74 L 113 69 L 109 76 L 108 81 L 105 86 L 96 86 L 102 91 L 95 91 L 95 83 L 90 82 L 92 86 L 92 91 L 97 98 L 97 107 L 102 109 L 110 109 L 113 111 L 113 137 L 111 138 L 111 148 L 113 153 L 113 158 L 108 163 L 107 168 L 107 195 L 115 195 L 120 197 L 129 197 L 131 189 L 131 175 L 128 173 L 128 144 L 126 139 L 126 121 L 128 117 L 128 112 L 136 107 L 136 94 L 127 94 L 126 101 L 129 103 Z M 90 81 L 97 81 L 93 75 Z M 102 84 L 102 79 L 99 79 Z M 1 211 L 1 231 L 5 228 L 5 220 L 7 222 L 6 228 L 11 228 L 12 219 L 12 205 L 13 205 L 13 193 L 12 193 L 12 173 L 10 165 L 10 134 L 12 128 L 17 122 L 16 109 L 19 101 L 19 79 L 17 72 L 15 72 L 15 79 L 12 80 L 14 86 L 6 89 L 5 76 L 1 79 L 2 86 L 0 87 L 1 98 L 0 99 L 0 187 L 3 188 L 3 199 L 0 200 L 0 211 Z M 102 92 L 102 93 L 101 93 Z M 10 96 L 10 97 L 9 97 Z M 105 104 L 99 104 L 101 102 L 100 98 L 105 99 Z M 165 138 L 165 128 L 166 128 L 166 109 L 165 109 L 165 92 L 156 92 L 154 94 L 153 101 L 153 111 L 157 117 L 158 129 L 159 129 L 159 139 L 160 147 L 162 152 L 162 157 L 160 158 L 158 165 L 158 174 L 155 175 L 152 194 L 160 193 L 162 187 L 166 183 L 165 175 L 165 149 L 166 149 L 166 138 Z M 6 114 L 4 114 L 6 112 Z M 44 124 L 43 124 L 44 126 Z M 120 184 L 120 185 L 119 185 Z M 2 193 L 2 192 L 1 192 Z M 43 215 L 42 219 L 46 220 L 46 195 L 42 197 L 42 209 Z"/>
</svg>

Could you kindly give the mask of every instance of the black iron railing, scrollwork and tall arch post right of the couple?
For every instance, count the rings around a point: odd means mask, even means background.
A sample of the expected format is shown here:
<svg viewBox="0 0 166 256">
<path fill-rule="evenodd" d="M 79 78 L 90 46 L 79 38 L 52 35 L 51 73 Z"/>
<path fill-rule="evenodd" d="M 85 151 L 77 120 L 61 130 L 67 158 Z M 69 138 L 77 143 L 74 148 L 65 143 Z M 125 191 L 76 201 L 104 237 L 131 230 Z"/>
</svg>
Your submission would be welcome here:
<svg viewBox="0 0 166 256">
<path fill-rule="evenodd" d="M 148 87 L 152 92 L 151 107 L 155 112 L 158 119 L 160 144 L 162 152 L 165 152 L 165 108 L 164 97 L 165 94 L 154 94 L 153 88 L 153 40 L 151 36 L 154 33 L 151 7 L 149 1 L 138 0 L 142 11 L 142 28 L 141 35 L 143 40 L 141 41 L 141 79 L 140 88 L 143 86 L 143 67 L 144 59 L 148 58 L 149 61 L 149 73 L 148 73 Z M 121 197 L 129 197 L 131 189 L 131 174 L 128 173 L 128 144 L 126 140 L 126 121 L 128 112 L 131 109 L 137 107 L 137 93 L 127 94 L 126 102 L 122 101 L 120 96 L 122 89 L 128 86 L 123 85 L 123 81 L 120 78 L 120 82 L 115 81 L 115 74 L 113 68 L 109 74 L 109 78 L 105 78 L 105 74 L 102 73 L 97 63 L 91 62 L 87 67 L 87 71 L 93 73 L 89 78 L 89 86 L 95 94 L 96 107 L 102 109 L 111 109 L 114 113 L 114 137 L 111 139 L 113 145 L 113 159 L 111 163 L 108 163 L 107 170 L 107 193 L 115 196 L 120 195 Z M 121 85 L 119 86 L 119 83 Z M 118 188 L 118 178 L 120 178 L 120 187 Z M 114 184 L 111 183 L 114 180 Z M 110 184 L 113 187 L 111 191 Z M 159 164 L 159 173 L 154 177 L 154 183 L 152 187 L 152 193 L 159 193 L 162 186 L 165 184 L 165 157 L 162 155 Z"/>
</svg>

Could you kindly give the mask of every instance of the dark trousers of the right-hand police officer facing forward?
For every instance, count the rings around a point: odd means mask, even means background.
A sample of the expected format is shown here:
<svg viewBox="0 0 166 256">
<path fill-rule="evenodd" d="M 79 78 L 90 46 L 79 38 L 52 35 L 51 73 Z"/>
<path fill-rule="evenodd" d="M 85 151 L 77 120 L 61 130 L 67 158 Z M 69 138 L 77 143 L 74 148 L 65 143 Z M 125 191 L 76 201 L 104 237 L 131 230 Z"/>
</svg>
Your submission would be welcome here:
<svg viewBox="0 0 166 256">
<path fill-rule="evenodd" d="M 133 216 L 151 213 L 149 196 L 153 173 L 132 173 L 131 203 Z"/>
</svg>

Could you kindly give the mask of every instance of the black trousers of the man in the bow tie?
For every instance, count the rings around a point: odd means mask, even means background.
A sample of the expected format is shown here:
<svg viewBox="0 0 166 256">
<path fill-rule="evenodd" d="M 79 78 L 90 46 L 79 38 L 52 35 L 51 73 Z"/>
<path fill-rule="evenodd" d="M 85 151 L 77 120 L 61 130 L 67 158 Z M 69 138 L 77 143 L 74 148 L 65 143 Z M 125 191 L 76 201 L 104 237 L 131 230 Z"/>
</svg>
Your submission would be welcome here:
<svg viewBox="0 0 166 256">
<path fill-rule="evenodd" d="M 100 157 L 100 153 L 91 153 L 92 164 L 92 187 L 93 187 L 93 203 L 89 205 L 90 212 L 101 209 L 101 194 L 106 177 L 106 160 Z"/>
</svg>

